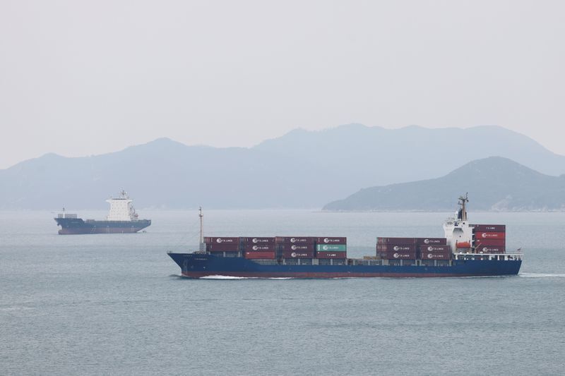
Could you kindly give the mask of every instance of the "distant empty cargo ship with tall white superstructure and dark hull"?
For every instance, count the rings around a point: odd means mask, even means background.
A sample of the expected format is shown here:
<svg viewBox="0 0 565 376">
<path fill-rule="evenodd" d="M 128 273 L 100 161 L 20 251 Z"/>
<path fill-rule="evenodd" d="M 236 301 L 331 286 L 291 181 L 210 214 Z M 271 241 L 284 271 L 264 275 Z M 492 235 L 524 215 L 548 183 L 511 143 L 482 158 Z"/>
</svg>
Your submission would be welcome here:
<svg viewBox="0 0 565 376">
<path fill-rule="evenodd" d="M 72 234 L 124 234 L 134 233 L 150 226 L 150 219 L 139 219 L 132 202 L 122 190 L 119 197 L 106 200 L 110 204 L 110 211 L 105 221 L 95 219 L 81 219 L 76 214 L 63 212 L 57 214 L 55 222 L 61 229 L 59 235 Z"/>
</svg>

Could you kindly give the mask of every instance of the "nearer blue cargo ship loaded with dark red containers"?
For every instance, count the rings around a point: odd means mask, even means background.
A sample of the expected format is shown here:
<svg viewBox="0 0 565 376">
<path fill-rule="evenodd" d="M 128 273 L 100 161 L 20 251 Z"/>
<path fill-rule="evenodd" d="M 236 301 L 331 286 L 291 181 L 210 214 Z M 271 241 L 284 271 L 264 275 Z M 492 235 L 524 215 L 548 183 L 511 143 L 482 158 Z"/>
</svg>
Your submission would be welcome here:
<svg viewBox="0 0 565 376">
<path fill-rule="evenodd" d="M 347 257 L 340 236 L 203 237 L 198 251 L 168 252 L 182 277 L 481 277 L 518 274 L 523 254 L 506 253 L 504 224 L 470 224 L 467 195 L 443 238 L 376 238 L 374 255 Z"/>
</svg>

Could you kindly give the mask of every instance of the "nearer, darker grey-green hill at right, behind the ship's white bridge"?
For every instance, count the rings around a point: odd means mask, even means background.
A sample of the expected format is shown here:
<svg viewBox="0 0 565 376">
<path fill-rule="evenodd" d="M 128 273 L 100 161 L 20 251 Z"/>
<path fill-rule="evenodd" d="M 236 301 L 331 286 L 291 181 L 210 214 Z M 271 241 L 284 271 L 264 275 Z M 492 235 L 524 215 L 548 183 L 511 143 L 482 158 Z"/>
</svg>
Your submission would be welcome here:
<svg viewBox="0 0 565 376">
<path fill-rule="evenodd" d="M 565 175 L 540 174 L 501 157 L 465 164 L 441 178 L 365 188 L 324 210 L 454 210 L 469 192 L 474 210 L 565 210 Z"/>
</svg>

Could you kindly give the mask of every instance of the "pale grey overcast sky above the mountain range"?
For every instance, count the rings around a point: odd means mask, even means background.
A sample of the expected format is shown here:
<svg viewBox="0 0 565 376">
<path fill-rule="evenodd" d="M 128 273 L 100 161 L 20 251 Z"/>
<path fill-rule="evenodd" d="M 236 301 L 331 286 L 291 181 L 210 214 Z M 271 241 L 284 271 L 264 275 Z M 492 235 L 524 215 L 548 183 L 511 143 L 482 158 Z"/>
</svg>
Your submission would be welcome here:
<svg viewBox="0 0 565 376">
<path fill-rule="evenodd" d="M 0 0 L 0 168 L 496 124 L 565 154 L 565 1 Z"/>
</svg>

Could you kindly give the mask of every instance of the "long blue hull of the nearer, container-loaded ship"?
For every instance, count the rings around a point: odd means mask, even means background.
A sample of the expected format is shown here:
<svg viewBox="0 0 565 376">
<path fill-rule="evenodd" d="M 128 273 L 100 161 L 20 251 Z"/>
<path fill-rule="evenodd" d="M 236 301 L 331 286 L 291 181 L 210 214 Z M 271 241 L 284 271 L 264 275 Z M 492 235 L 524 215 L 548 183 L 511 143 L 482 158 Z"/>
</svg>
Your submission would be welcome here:
<svg viewBox="0 0 565 376">
<path fill-rule="evenodd" d="M 243 257 L 169 253 L 189 278 L 222 275 L 255 278 L 482 277 L 516 275 L 521 260 L 453 260 L 451 266 L 261 265 Z"/>
</svg>

